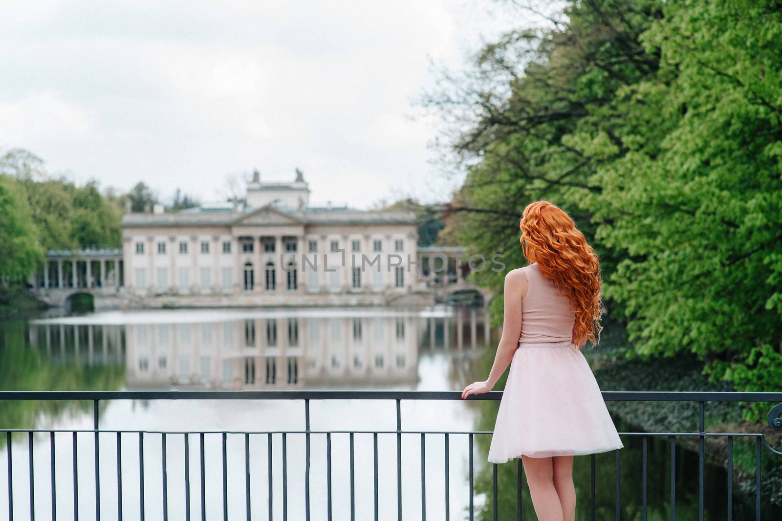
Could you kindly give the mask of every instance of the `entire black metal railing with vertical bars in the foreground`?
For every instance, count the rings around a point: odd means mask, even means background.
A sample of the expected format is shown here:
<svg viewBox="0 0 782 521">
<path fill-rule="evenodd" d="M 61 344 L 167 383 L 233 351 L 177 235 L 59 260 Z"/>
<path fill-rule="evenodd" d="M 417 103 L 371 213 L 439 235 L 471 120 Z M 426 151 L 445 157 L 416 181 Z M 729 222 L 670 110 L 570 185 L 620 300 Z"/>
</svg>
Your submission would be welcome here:
<svg viewBox="0 0 782 521">
<path fill-rule="evenodd" d="M 652 437 L 658 437 L 669 441 L 670 446 L 670 519 L 676 519 L 676 458 L 675 447 L 677 437 L 698 437 L 698 519 L 703 519 L 704 516 L 704 460 L 705 460 L 705 438 L 706 437 L 726 437 L 727 441 L 727 498 L 726 498 L 726 519 L 732 519 L 733 516 L 733 448 L 734 439 L 737 438 L 754 438 L 755 440 L 755 519 L 761 519 L 761 490 L 762 490 L 762 475 L 761 475 L 761 451 L 765 446 L 773 455 L 782 455 L 782 452 L 777 451 L 769 445 L 762 433 L 707 433 L 705 432 L 705 419 L 704 408 L 706 402 L 782 402 L 782 393 L 733 393 L 733 392 L 637 392 L 637 391 L 604 391 L 603 397 L 605 401 L 687 401 L 698 404 L 698 432 L 660 432 L 660 433 L 634 433 L 634 432 L 620 432 L 622 437 L 641 437 L 642 438 L 642 519 L 647 519 L 647 440 Z M 480 394 L 468 398 L 468 401 L 473 400 L 490 400 L 497 401 L 502 396 L 501 392 L 490 392 Z M 20 400 L 34 400 L 34 401 L 92 401 L 93 404 L 93 429 L 4 429 L 0 426 L 0 433 L 5 433 L 6 441 L 6 465 L 8 470 L 8 496 L 7 496 L 7 512 L 9 513 L 9 519 L 13 521 L 15 514 L 19 516 L 14 507 L 14 480 L 13 480 L 13 451 L 12 442 L 15 437 L 20 435 L 27 435 L 27 465 L 29 466 L 29 483 L 26 483 L 29 488 L 29 519 L 35 519 L 36 516 L 36 493 L 40 493 L 41 489 L 36 488 L 36 478 L 34 475 L 34 434 L 35 433 L 48 433 L 48 449 L 50 453 L 50 481 L 51 481 L 51 505 L 52 513 L 51 519 L 56 519 L 57 516 L 57 492 L 58 487 L 55 486 L 56 482 L 56 433 L 70 433 L 71 444 L 73 451 L 72 462 L 72 474 L 73 474 L 73 519 L 79 519 L 80 505 L 79 505 L 79 477 L 78 471 L 80 464 L 83 466 L 85 462 L 91 460 L 94 457 L 94 494 L 95 494 L 95 519 L 100 519 L 102 506 L 101 506 L 101 470 L 102 465 L 100 462 L 100 441 L 105 439 L 109 434 L 116 436 L 117 455 L 116 455 L 116 472 L 117 472 L 117 488 L 116 488 L 116 518 L 123 519 L 123 482 L 124 474 L 123 461 L 122 461 L 122 444 L 123 440 L 128 436 L 138 436 L 138 506 L 139 506 L 139 519 L 145 519 L 145 497 L 148 493 L 145 493 L 145 483 L 149 481 L 149 478 L 145 474 L 145 453 L 144 443 L 145 440 L 151 439 L 153 436 L 160 435 L 160 494 L 162 494 L 162 512 L 160 516 L 154 516 L 155 519 L 168 519 L 169 516 L 169 501 L 168 501 L 168 467 L 167 467 L 167 440 L 170 437 L 177 435 L 182 436 L 183 448 L 184 448 L 184 469 L 180 469 L 180 472 L 184 472 L 185 479 L 185 519 L 192 519 L 192 517 L 198 517 L 199 519 L 207 519 L 206 517 L 206 501 L 207 501 L 207 487 L 206 487 L 206 462 L 205 462 L 205 437 L 212 435 L 220 435 L 221 437 L 221 482 L 222 482 L 222 516 L 223 519 L 229 519 L 229 498 L 228 490 L 229 483 L 231 483 L 231 490 L 235 488 L 235 483 L 241 482 L 243 479 L 244 488 L 244 509 L 246 519 L 250 519 L 250 512 L 256 505 L 252 501 L 253 490 L 250 484 L 250 439 L 251 437 L 266 437 L 267 441 L 267 465 L 265 486 L 267 487 L 267 505 L 264 510 L 268 512 L 268 519 L 274 517 L 274 468 L 273 468 L 273 437 L 278 437 L 282 447 L 282 484 L 278 487 L 282 487 L 282 516 L 280 519 L 287 521 L 289 516 L 289 436 L 301 436 L 304 438 L 304 469 L 303 469 L 303 514 L 307 521 L 310 520 L 310 514 L 313 511 L 311 505 L 311 485 L 310 485 L 310 463 L 312 460 L 312 438 L 315 436 L 325 437 L 325 474 L 326 474 L 326 491 L 325 491 L 325 514 L 327 519 L 331 521 L 332 516 L 332 499 L 334 498 L 332 490 L 332 435 L 347 435 L 349 443 L 349 468 L 350 468 L 350 519 L 354 521 L 357 516 L 356 511 L 356 469 L 357 462 L 355 458 L 355 440 L 357 436 L 371 437 L 372 447 L 372 461 L 361 460 L 359 465 L 368 469 L 371 466 L 372 487 L 374 497 L 372 512 L 374 519 L 379 519 L 381 512 L 379 508 L 379 483 L 378 483 L 378 436 L 389 435 L 389 437 L 396 437 L 396 517 L 399 521 L 403 519 L 403 451 L 402 451 L 402 439 L 403 435 L 406 437 L 416 436 L 420 437 L 420 494 L 421 500 L 421 519 L 425 521 L 427 512 L 427 467 L 426 467 L 426 447 L 427 440 L 432 437 L 442 437 L 443 450 L 444 450 L 444 483 L 443 483 L 443 501 L 445 502 L 444 519 L 450 519 L 451 516 L 451 494 L 450 494 L 450 441 L 455 436 L 465 436 L 468 440 L 468 519 L 472 521 L 475 516 L 475 503 L 474 503 L 474 487 L 475 487 L 475 437 L 482 435 L 490 435 L 490 432 L 475 431 L 475 430 L 404 430 L 402 426 L 402 402 L 405 401 L 454 401 L 461 398 L 459 392 L 425 392 L 425 391 L 338 391 L 338 390 L 325 390 L 325 391 L 305 391 L 305 390 L 291 390 L 291 391 L 106 391 L 106 392 L 92 392 L 92 391 L 0 391 L 0 401 L 20 401 Z M 143 400 L 143 401 L 163 401 L 163 400 L 229 400 L 229 401 L 301 401 L 303 402 L 303 420 L 304 429 L 301 430 L 267 430 L 267 431 L 249 431 L 249 430 L 199 430 L 199 431 L 170 431 L 170 430 L 123 430 L 123 429 L 100 429 L 99 428 L 99 402 L 101 401 L 127 401 L 127 400 Z M 346 401 L 346 400 L 378 400 L 378 401 L 395 401 L 396 402 L 396 429 L 392 430 L 316 430 L 311 429 L 310 426 L 310 401 Z M 771 408 L 767 415 L 766 421 L 772 429 L 782 429 L 782 403 L 777 404 Z M 77 451 L 77 437 L 79 435 L 84 436 L 91 433 L 94 437 L 94 454 L 89 455 L 88 459 L 84 461 L 80 460 Z M 14 436 L 16 435 L 16 436 Z M 102 436 L 101 436 L 102 435 Z M 191 437 L 197 435 L 199 442 L 199 469 L 200 473 L 200 512 L 191 512 L 191 469 L 190 469 L 190 441 Z M 227 442 L 228 436 L 239 436 L 244 439 L 244 476 L 230 475 L 228 472 L 228 457 L 227 457 Z M 595 519 L 596 505 L 595 505 L 595 492 L 596 492 L 596 459 L 595 455 L 590 455 L 590 513 L 591 519 Z M 149 461 L 149 460 L 148 460 Z M 491 501 L 493 506 L 493 518 L 497 519 L 497 501 L 500 494 L 500 490 L 497 484 L 497 464 L 492 468 L 492 492 Z M 515 492 L 517 519 L 522 519 L 522 461 L 518 459 L 518 472 L 517 472 L 517 487 Z M 620 515 L 620 487 L 619 487 L 619 472 L 620 472 L 620 458 L 619 450 L 615 451 L 615 519 L 619 519 Z M 157 490 L 156 490 L 157 492 Z M 346 492 L 346 490 L 344 491 Z M 506 491 L 502 491 L 505 493 Z M 278 497 L 280 494 L 276 494 Z M 0 500 L 2 501 L 2 500 Z M 298 503 L 299 499 L 296 498 Z M 487 500 L 488 501 L 488 500 Z M 2 505 L 0 505 L 2 508 Z M 105 509 L 105 505 L 104 505 Z M 25 510 L 27 510 L 25 508 Z M 113 508 L 112 508 L 113 510 Z M 321 511 L 318 509 L 318 513 Z M 368 519 L 368 517 L 362 516 L 360 519 Z M 406 518 L 407 521 L 407 518 Z"/>
</svg>

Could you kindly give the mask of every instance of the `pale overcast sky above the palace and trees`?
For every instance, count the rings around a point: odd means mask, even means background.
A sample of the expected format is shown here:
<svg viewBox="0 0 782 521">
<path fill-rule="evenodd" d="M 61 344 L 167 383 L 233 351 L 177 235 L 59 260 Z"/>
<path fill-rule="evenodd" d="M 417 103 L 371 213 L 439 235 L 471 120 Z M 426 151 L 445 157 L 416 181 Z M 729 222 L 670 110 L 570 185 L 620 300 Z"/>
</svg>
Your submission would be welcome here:
<svg viewBox="0 0 782 521">
<path fill-rule="evenodd" d="M 436 121 L 413 104 L 428 57 L 461 69 L 512 23 L 492 0 L 30 0 L 2 18 L 0 148 L 163 199 L 300 167 L 312 203 L 353 207 L 448 198 L 458 179 L 431 163 Z"/>
</svg>

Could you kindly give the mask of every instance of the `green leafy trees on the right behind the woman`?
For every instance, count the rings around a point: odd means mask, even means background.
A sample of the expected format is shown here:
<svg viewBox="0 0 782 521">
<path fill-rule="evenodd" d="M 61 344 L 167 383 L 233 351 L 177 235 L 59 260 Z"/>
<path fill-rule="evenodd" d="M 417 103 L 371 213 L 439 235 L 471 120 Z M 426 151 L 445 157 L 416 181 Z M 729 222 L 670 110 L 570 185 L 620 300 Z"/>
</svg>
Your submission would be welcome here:
<svg viewBox="0 0 782 521">
<path fill-rule="evenodd" d="M 547 199 L 601 258 L 626 357 L 694 356 L 712 382 L 782 390 L 778 3 L 520 9 L 545 21 L 483 45 L 421 101 L 466 172 L 441 234 L 522 266 L 518 219 Z M 504 273 L 474 277 L 501 318 Z"/>
</svg>

